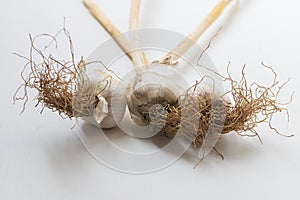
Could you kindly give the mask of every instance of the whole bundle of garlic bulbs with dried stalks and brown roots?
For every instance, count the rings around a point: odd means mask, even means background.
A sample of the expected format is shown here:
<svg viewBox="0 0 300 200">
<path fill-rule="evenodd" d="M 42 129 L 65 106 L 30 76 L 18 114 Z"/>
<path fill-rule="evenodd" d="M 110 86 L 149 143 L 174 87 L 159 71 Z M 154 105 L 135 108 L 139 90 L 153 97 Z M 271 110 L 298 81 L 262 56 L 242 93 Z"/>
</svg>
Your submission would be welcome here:
<svg viewBox="0 0 300 200">
<path fill-rule="evenodd" d="M 274 84 L 266 87 L 258 84 L 247 85 L 244 71 L 240 81 L 233 80 L 229 74 L 227 77 L 217 74 L 231 85 L 231 90 L 223 94 L 216 94 L 215 88 L 203 89 L 205 88 L 203 78 L 199 78 L 200 81 L 184 90 L 176 88 L 177 86 L 172 88 L 172 84 L 151 83 L 145 79 L 147 74 L 155 74 L 153 69 L 178 67 L 179 58 L 193 46 L 223 11 L 233 12 L 238 2 L 238 0 L 221 0 L 177 47 L 161 60 L 150 63 L 145 53 L 138 48 L 140 35 L 139 31 L 135 31 L 138 29 L 139 0 L 132 0 L 130 40 L 121 34 L 93 1 L 83 0 L 90 13 L 132 61 L 135 76 L 126 83 L 124 90 L 117 90 L 120 79 L 103 63 L 98 62 L 102 69 L 92 74 L 86 70 L 92 62 L 81 59 L 78 64 L 75 63 L 71 43 L 71 60 L 61 62 L 51 55 L 47 57 L 42 54 L 34 46 L 34 39 L 31 39 L 31 52 L 38 53 L 44 61 L 37 64 L 29 59 L 25 67 L 29 69 L 29 74 L 24 78 L 21 87 L 25 91 L 22 99 L 27 101 L 27 88 L 36 89 L 38 103 L 44 107 L 65 114 L 69 118 L 82 118 L 101 128 L 115 127 L 122 120 L 127 106 L 130 117 L 137 126 L 159 127 L 167 136 L 180 133 L 195 146 L 202 146 L 207 136 L 215 132 L 225 134 L 236 131 L 242 134 L 250 131 L 254 136 L 258 136 L 254 129 L 256 125 L 270 120 L 273 114 L 284 110 L 277 102 L 277 95 L 282 87 L 278 85 L 276 76 Z M 71 41 L 67 30 L 64 28 L 63 31 Z M 268 66 L 263 66 L 269 69 Z M 231 96 L 231 100 L 228 96 Z M 113 102 L 119 99 L 126 103 L 114 109 Z M 115 112 L 118 114 L 115 115 Z M 262 118 L 259 118 L 259 115 Z M 274 129 L 271 124 L 269 125 Z"/>
</svg>

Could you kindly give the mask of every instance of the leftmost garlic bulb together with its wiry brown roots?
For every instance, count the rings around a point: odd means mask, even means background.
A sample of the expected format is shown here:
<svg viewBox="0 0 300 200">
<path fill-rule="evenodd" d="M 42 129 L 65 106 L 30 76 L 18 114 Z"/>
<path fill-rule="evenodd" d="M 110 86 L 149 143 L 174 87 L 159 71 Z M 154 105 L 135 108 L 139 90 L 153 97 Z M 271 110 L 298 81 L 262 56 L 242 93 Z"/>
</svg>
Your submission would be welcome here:
<svg viewBox="0 0 300 200">
<path fill-rule="evenodd" d="M 56 44 L 56 37 L 61 32 L 69 41 L 71 54 L 69 61 L 56 59 L 35 45 L 40 37 L 50 38 L 52 41 L 50 44 Z M 43 106 L 42 111 L 44 108 L 49 108 L 53 112 L 58 112 L 63 118 L 82 118 L 90 121 L 92 119 L 102 128 L 116 126 L 109 100 L 113 98 L 111 90 L 118 81 L 105 72 L 102 72 L 97 81 L 92 80 L 86 73 L 86 67 L 92 63 L 85 63 L 81 58 L 76 64 L 72 39 L 65 27 L 55 36 L 49 34 L 30 36 L 30 43 L 29 58 L 17 54 L 28 61 L 21 73 L 23 84 L 14 95 L 14 101 L 23 100 L 24 102 L 22 112 L 29 98 L 28 89 L 34 89 L 37 91 L 37 105 Z M 42 61 L 39 62 L 39 59 Z"/>
</svg>

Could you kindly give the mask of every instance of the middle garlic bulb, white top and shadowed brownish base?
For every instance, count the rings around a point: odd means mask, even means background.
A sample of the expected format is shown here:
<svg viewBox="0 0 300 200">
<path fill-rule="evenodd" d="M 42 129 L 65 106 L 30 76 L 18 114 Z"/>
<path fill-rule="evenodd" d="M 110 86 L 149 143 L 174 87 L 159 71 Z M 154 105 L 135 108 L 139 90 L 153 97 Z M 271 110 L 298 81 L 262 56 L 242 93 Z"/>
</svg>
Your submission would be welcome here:
<svg viewBox="0 0 300 200">
<path fill-rule="evenodd" d="M 183 77 L 172 67 L 152 63 L 148 69 L 140 70 L 127 96 L 132 121 L 142 127 L 150 125 L 153 109 L 178 105 L 178 97 L 186 87 Z"/>
</svg>

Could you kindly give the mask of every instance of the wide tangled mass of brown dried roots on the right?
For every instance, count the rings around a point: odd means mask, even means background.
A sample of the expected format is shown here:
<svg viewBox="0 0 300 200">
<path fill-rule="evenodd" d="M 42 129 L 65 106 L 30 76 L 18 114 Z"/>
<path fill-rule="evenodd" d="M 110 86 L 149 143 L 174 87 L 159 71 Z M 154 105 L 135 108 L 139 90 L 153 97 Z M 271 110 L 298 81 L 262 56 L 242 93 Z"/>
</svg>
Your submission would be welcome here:
<svg viewBox="0 0 300 200">
<path fill-rule="evenodd" d="M 207 134 L 216 131 L 221 134 L 235 131 L 243 136 L 257 136 L 261 141 L 255 128 L 263 122 L 267 122 L 270 129 L 280 134 L 272 127 L 271 120 L 276 113 L 286 111 L 288 114 L 288 110 L 282 107 L 284 104 L 280 104 L 277 100 L 286 83 L 279 85 L 274 70 L 262 65 L 274 74 L 274 81 L 270 86 L 256 82 L 247 84 L 244 66 L 240 81 L 234 80 L 228 70 L 228 77 L 217 74 L 224 82 L 230 83 L 231 90 L 223 96 L 216 96 L 210 92 L 200 91 L 204 77 L 182 96 L 181 105 L 166 105 L 164 107 L 166 115 L 162 114 L 163 112 L 150 113 L 151 125 L 163 127 L 162 132 L 168 137 L 182 134 L 198 147 L 204 144 Z M 225 99 L 229 96 L 232 97 L 232 102 Z"/>
</svg>

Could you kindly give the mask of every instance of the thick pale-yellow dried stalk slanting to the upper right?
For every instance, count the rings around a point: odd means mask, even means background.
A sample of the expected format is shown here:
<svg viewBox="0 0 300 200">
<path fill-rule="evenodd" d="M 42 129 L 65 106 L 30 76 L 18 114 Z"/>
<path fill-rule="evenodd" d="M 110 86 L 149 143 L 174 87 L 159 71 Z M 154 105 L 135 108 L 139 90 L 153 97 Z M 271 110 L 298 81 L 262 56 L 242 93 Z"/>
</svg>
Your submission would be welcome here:
<svg viewBox="0 0 300 200">
<path fill-rule="evenodd" d="M 198 38 L 218 19 L 225 8 L 231 3 L 235 3 L 234 8 L 237 7 L 239 0 L 222 0 L 209 15 L 198 25 L 198 27 L 190 33 L 177 47 L 170 51 L 161 61 L 161 64 L 175 65 L 178 58 L 180 58 L 197 40 Z M 232 9 L 233 12 L 235 9 Z"/>
</svg>

